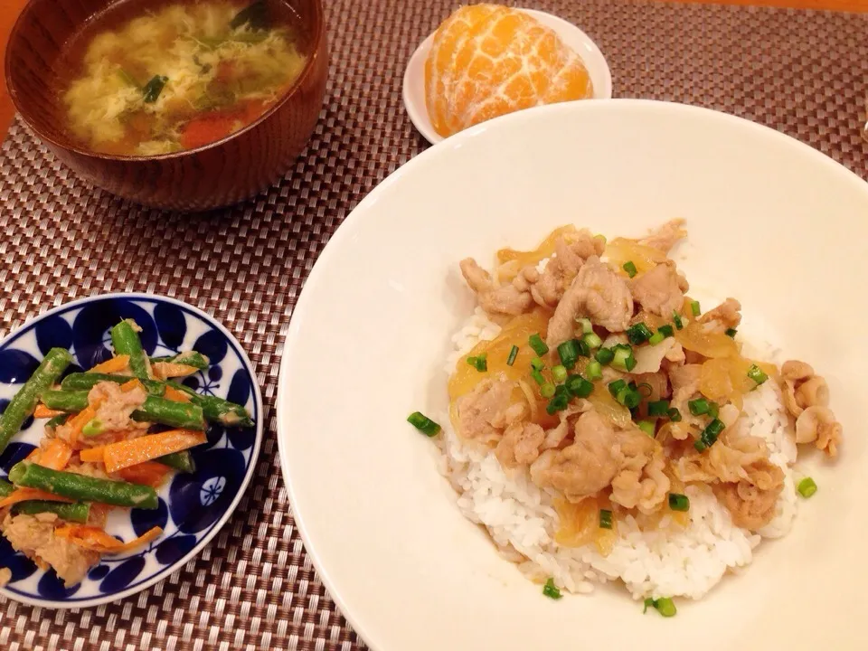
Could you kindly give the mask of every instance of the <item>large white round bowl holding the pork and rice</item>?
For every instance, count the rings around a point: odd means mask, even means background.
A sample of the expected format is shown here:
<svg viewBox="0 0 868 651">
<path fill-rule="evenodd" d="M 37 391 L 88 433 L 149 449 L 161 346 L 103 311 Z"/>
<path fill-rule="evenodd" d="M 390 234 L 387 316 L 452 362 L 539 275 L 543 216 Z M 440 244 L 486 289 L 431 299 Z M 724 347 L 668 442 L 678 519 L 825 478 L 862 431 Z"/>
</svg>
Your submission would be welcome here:
<svg viewBox="0 0 868 651">
<path fill-rule="evenodd" d="M 471 128 L 401 167 L 335 233 L 289 326 L 278 443 L 307 551 L 375 651 L 865 648 L 863 366 L 868 184 L 816 150 L 707 109 L 571 102 Z M 679 266 L 741 299 L 743 335 L 826 375 L 844 424 L 794 530 L 664 619 L 618 586 L 557 602 L 455 505 L 429 439 L 450 335 L 474 300 L 458 260 L 567 222 L 609 236 L 686 218 Z M 853 327 L 854 332 L 849 328 Z M 652 616 L 653 615 L 653 616 Z"/>
</svg>

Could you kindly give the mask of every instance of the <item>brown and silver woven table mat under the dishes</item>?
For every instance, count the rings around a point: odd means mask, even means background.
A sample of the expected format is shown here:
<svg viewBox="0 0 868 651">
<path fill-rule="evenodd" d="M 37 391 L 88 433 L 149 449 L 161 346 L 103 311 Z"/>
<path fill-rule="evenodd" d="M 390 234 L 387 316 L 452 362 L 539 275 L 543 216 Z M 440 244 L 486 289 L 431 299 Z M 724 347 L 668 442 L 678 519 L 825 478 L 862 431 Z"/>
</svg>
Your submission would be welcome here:
<svg viewBox="0 0 868 651">
<path fill-rule="evenodd" d="M 868 178 L 860 130 L 868 15 L 618 0 L 522 2 L 585 30 L 618 97 L 721 109 L 777 128 Z M 0 151 L 0 335 L 77 297 L 147 291 L 212 313 L 257 367 L 267 433 L 231 522 L 136 597 L 90 610 L 0 602 L 18 649 L 363 648 L 316 576 L 280 477 L 275 394 L 283 335 L 325 242 L 427 143 L 401 105 L 404 63 L 450 0 L 327 3 L 331 73 L 307 152 L 254 200 L 203 214 L 149 211 L 81 182 L 17 122 Z"/>
</svg>

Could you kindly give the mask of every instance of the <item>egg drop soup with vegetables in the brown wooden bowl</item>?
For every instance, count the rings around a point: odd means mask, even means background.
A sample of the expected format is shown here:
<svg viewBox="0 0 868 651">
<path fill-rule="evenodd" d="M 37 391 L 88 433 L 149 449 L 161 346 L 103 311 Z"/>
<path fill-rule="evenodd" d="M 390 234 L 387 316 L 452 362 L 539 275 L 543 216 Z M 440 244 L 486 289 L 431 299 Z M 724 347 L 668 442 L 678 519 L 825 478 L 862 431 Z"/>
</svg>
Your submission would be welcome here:
<svg viewBox="0 0 868 651">
<path fill-rule="evenodd" d="M 82 39 L 61 105 L 75 137 L 113 155 L 167 154 L 229 136 L 283 95 L 306 61 L 292 24 L 264 0 L 107 16 Z"/>
</svg>

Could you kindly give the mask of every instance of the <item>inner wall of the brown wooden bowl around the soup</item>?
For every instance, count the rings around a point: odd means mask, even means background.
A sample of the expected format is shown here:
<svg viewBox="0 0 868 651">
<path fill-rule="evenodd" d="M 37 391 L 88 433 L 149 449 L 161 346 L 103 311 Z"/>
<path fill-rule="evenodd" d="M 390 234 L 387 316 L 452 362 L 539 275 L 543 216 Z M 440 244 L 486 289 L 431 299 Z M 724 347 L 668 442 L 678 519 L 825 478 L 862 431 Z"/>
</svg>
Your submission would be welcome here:
<svg viewBox="0 0 868 651">
<path fill-rule="evenodd" d="M 40 137 L 56 146 L 104 158 L 127 157 L 90 152 L 88 146 L 72 137 L 64 128 L 66 116 L 60 93 L 80 72 L 80 57 L 92 36 L 123 24 L 143 11 L 195 1 L 31 0 L 14 24 L 6 50 L 6 86 L 15 108 Z M 297 25 L 299 47 L 307 56 L 307 67 L 298 77 L 301 80 L 314 61 L 313 54 L 325 29 L 321 4 L 319 0 L 269 0 L 269 4 L 274 11 Z M 297 84 L 298 81 L 287 91 L 284 100 L 293 94 Z M 251 125 L 230 137 L 259 123 L 280 103 L 275 103 Z M 182 154 L 189 151 L 195 149 L 185 150 Z"/>
</svg>

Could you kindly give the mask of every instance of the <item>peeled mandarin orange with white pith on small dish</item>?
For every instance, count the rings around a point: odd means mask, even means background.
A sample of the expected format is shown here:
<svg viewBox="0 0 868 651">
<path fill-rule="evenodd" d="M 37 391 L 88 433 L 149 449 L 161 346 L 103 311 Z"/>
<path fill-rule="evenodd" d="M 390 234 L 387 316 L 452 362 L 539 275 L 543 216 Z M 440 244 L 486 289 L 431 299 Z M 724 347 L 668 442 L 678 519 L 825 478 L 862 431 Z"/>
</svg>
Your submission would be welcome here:
<svg viewBox="0 0 868 651">
<path fill-rule="evenodd" d="M 580 56 L 557 33 L 499 5 L 469 5 L 450 15 L 425 61 L 425 104 L 444 137 L 505 113 L 592 94 Z"/>
</svg>

